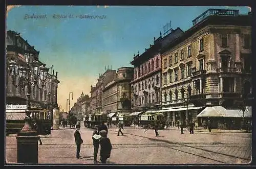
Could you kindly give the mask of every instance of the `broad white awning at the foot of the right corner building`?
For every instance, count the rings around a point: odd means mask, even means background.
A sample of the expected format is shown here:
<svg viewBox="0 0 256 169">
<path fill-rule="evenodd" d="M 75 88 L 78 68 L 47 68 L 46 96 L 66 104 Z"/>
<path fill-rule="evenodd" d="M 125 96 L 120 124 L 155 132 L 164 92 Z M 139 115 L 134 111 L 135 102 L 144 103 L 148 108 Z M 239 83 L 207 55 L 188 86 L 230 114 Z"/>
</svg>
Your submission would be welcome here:
<svg viewBox="0 0 256 169">
<path fill-rule="evenodd" d="M 225 109 L 222 106 L 206 107 L 197 117 L 243 117 L 243 111 Z M 251 107 L 244 112 L 244 117 L 251 117 Z"/>
</svg>

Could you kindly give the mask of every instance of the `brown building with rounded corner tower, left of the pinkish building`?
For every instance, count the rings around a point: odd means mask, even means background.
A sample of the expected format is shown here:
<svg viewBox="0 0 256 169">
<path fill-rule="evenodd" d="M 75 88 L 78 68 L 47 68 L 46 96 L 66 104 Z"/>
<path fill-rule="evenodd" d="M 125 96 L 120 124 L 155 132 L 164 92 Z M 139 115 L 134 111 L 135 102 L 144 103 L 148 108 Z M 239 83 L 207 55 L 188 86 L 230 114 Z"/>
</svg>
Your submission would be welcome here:
<svg viewBox="0 0 256 169">
<path fill-rule="evenodd" d="M 133 80 L 133 67 L 120 67 L 117 69 L 115 79 L 108 83 L 102 94 L 103 113 L 120 115 L 131 113 L 131 84 Z"/>
</svg>

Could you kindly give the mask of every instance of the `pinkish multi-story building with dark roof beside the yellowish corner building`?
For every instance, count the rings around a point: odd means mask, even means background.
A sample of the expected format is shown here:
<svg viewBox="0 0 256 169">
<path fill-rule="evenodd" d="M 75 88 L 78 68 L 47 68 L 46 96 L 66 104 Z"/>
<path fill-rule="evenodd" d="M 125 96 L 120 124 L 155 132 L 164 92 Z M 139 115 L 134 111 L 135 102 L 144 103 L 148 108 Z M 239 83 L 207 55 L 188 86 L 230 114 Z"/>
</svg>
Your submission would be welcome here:
<svg viewBox="0 0 256 169">
<path fill-rule="evenodd" d="M 161 47 L 166 46 L 183 34 L 180 28 L 155 39 L 154 45 L 139 56 L 134 56 L 134 80 L 132 86 L 133 111 L 161 109 Z"/>
</svg>

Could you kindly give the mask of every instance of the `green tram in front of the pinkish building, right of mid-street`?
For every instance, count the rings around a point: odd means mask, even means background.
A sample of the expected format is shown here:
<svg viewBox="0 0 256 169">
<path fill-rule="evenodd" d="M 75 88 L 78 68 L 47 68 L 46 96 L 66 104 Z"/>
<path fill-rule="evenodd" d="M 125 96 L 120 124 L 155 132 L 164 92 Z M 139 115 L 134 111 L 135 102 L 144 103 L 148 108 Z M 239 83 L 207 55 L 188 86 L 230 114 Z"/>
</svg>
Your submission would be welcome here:
<svg viewBox="0 0 256 169">
<path fill-rule="evenodd" d="M 146 128 L 148 125 L 153 127 L 154 124 L 157 123 L 159 125 L 159 129 L 163 129 L 165 125 L 164 115 L 159 112 L 145 112 L 140 115 L 139 123 L 143 128 Z"/>
</svg>

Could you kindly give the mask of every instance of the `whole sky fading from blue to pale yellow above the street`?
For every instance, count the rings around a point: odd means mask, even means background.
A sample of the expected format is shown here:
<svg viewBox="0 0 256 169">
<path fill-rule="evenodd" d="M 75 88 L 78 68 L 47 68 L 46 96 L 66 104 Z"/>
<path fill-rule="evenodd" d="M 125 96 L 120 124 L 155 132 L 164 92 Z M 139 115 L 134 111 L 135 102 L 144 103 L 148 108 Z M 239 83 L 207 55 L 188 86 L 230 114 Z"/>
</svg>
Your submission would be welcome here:
<svg viewBox="0 0 256 169">
<path fill-rule="evenodd" d="M 134 54 L 145 52 L 166 23 L 186 31 L 209 8 L 250 11 L 236 6 L 9 6 L 6 29 L 20 33 L 40 51 L 39 60 L 58 72 L 58 105 L 66 111 L 71 91 L 73 107 L 82 92 L 90 96 L 105 67 L 133 67 Z M 28 18 L 32 15 L 43 17 Z"/>
</svg>

